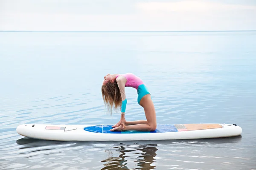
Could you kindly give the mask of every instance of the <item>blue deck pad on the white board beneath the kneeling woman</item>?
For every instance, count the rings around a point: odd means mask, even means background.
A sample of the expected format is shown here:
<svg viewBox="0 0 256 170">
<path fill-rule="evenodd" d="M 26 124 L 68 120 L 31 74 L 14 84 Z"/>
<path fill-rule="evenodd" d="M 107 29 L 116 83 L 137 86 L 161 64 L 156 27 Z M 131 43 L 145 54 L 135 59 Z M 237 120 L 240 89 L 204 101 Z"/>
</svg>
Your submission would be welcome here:
<svg viewBox="0 0 256 170">
<path fill-rule="evenodd" d="M 177 132 L 175 125 L 157 125 L 157 129 L 154 131 L 137 131 L 137 130 L 127 130 L 127 131 L 110 131 L 113 125 L 96 125 L 90 127 L 84 127 L 84 130 L 94 133 L 163 133 L 163 132 Z"/>
</svg>

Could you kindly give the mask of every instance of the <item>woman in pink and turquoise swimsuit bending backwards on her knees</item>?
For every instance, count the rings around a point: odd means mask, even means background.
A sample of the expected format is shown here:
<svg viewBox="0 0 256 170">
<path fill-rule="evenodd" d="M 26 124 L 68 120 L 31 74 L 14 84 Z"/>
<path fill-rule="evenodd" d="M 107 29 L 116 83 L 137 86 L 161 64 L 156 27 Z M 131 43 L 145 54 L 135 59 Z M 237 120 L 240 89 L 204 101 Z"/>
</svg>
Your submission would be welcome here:
<svg viewBox="0 0 256 170">
<path fill-rule="evenodd" d="M 132 87 L 137 89 L 138 103 L 144 108 L 147 120 L 138 120 L 127 122 L 125 121 L 125 109 L 127 99 L 125 96 L 125 87 Z M 114 130 L 140 130 L 140 131 L 154 131 L 157 128 L 157 118 L 154 104 L 151 100 L 151 94 L 143 81 L 134 74 L 107 74 L 104 77 L 102 84 L 102 97 L 105 104 L 108 106 L 108 111 L 112 113 L 113 107 L 115 109 L 121 107 L 121 119 L 113 125 Z"/>
</svg>

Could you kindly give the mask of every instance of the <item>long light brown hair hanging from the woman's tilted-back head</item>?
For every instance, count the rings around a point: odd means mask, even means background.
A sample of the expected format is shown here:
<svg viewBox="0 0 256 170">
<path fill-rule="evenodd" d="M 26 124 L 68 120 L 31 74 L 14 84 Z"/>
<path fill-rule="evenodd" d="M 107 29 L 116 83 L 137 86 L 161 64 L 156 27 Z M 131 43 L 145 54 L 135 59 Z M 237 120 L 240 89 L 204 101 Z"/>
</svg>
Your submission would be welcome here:
<svg viewBox="0 0 256 170">
<path fill-rule="evenodd" d="M 113 108 L 116 111 L 118 108 L 121 108 L 122 97 L 116 81 L 107 82 L 105 85 L 102 85 L 102 98 L 111 116 Z"/>
</svg>

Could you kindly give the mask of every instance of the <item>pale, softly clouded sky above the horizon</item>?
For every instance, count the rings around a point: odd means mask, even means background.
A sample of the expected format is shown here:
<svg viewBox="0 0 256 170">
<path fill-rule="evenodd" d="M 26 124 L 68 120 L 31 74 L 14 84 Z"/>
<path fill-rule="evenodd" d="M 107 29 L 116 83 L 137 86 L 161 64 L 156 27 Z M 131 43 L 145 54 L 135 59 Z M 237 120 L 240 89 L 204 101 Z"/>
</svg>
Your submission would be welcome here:
<svg viewBox="0 0 256 170">
<path fill-rule="evenodd" d="M 0 31 L 256 30 L 256 0 L 0 0 Z"/>
</svg>

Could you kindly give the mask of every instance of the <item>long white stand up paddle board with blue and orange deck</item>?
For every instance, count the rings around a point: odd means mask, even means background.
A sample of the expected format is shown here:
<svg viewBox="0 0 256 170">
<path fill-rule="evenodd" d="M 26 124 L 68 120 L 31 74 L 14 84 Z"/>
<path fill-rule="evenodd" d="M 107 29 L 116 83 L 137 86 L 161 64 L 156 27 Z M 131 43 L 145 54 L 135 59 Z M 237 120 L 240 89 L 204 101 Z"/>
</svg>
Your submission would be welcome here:
<svg viewBox="0 0 256 170">
<path fill-rule="evenodd" d="M 19 125 L 17 133 L 33 139 L 56 141 L 133 141 L 206 139 L 239 136 L 236 124 L 162 124 L 154 131 L 110 131 L 112 125 Z"/>
</svg>

